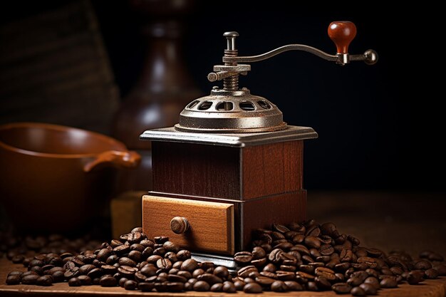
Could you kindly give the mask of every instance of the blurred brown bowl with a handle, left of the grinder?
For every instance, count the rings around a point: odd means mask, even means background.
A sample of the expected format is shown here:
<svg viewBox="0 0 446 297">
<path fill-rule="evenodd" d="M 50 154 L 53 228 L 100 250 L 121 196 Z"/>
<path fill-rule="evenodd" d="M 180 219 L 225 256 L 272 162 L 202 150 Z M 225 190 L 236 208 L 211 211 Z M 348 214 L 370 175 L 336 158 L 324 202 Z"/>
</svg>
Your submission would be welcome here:
<svg viewBox="0 0 446 297">
<path fill-rule="evenodd" d="M 140 156 L 111 137 L 41 123 L 0 125 L 0 201 L 15 226 L 73 231 L 100 217 L 116 167 Z"/>
</svg>

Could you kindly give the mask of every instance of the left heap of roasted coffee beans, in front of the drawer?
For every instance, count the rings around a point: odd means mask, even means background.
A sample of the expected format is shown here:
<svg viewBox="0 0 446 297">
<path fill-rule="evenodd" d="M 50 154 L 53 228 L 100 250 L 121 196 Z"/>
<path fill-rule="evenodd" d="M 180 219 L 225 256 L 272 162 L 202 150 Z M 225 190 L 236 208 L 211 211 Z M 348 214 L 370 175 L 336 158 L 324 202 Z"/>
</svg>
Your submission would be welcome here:
<svg viewBox="0 0 446 297">
<path fill-rule="evenodd" d="M 148 239 L 140 227 L 95 250 L 37 254 L 22 263 L 28 271 L 11 271 L 6 283 L 51 286 L 66 281 L 68 286 L 121 286 L 141 291 L 236 291 L 226 267 L 198 263 L 191 259 L 190 251 L 180 249 L 167 236 Z"/>
</svg>

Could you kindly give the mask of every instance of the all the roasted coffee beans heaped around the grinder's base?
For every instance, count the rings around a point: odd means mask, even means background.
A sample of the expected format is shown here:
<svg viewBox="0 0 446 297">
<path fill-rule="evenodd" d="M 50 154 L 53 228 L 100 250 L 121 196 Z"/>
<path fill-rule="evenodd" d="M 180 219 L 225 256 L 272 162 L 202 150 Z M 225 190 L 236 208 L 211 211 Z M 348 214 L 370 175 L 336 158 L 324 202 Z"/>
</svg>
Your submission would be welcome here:
<svg viewBox="0 0 446 297">
<path fill-rule="evenodd" d="M 252 249 L 234 255 L 239 265 L 234 276 L 224 266 L 191 259 L 190 251 L 180 249 L 167 236 L 147 238 L 138 227 L 97 249 L 49 251 L 31 259 L 22 255 L 21 263 L 28 271 L 11 271 L 6 283 L 51 286 L 68 282 L 68 286 L 158 292 L 333 290 L 366 296 L 403 282 L 415 285 L 446 276 L 439 254 L 423 251 L 420 259 L 403 251 L 385 254 L 361 246 L 354 236 L 340 234 L 333 223 L 273 224 L 271 229 L 254 231 L 253 238 Z"/>
</svg>

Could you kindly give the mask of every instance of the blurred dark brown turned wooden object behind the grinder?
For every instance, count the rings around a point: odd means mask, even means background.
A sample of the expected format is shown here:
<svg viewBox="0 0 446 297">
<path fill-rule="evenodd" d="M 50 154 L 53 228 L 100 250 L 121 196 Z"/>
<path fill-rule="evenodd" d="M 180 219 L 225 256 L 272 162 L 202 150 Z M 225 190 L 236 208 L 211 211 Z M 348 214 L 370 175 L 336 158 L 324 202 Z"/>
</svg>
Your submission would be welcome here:
<svg viewBox="0 0 446 297">
<path fill-rule="evenodd" d="M 140 134 L 178 122 L 181 110 L 200 95 L 185 66 L 182 39 L 193 0 L 130 0 L 140 26 L 145 54 L 135 85 L 123 99 L 113 122 L 113 136 L 142 155 L 138 170 L 124 172 L 122 189 L 152 189 L 150 142 Z M 124 19 L 123 21 L 127 21 Z M 138 37 L 141 38 L 141 37 Z"/>
</svg>

